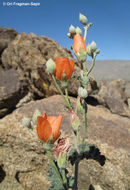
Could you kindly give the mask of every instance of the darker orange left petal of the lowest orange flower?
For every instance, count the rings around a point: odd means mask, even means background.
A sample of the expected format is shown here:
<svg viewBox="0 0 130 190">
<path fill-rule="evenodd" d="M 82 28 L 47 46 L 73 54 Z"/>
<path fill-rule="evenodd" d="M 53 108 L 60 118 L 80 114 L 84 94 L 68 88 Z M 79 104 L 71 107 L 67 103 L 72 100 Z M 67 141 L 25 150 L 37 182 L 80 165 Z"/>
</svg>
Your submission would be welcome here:
<svg viewBox="0 0 130 190">
<path fill-rule="evenodd" d="M 50 123 L 46 119 L 46 114 L 42 116 L 38 116 L 37 118 L 37 134 L 40 140 L 43 142 L 47 142 L 52 135 L 52 128 Z"/>
</svg>

